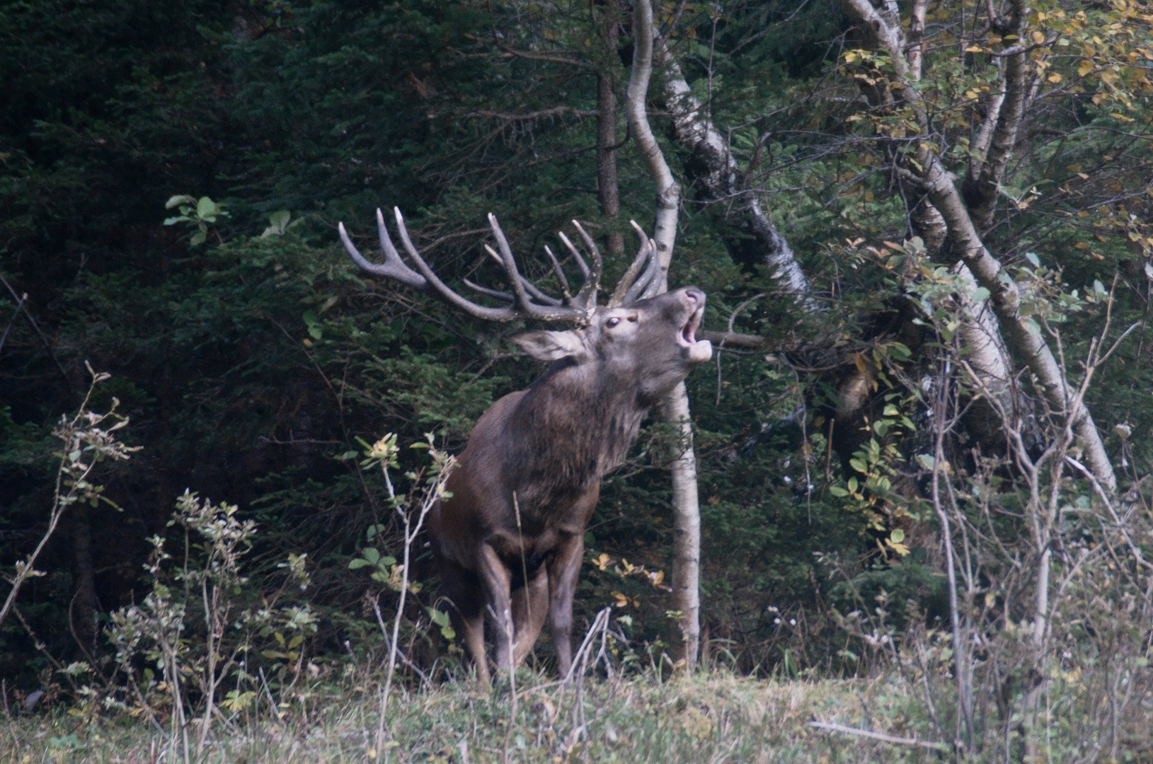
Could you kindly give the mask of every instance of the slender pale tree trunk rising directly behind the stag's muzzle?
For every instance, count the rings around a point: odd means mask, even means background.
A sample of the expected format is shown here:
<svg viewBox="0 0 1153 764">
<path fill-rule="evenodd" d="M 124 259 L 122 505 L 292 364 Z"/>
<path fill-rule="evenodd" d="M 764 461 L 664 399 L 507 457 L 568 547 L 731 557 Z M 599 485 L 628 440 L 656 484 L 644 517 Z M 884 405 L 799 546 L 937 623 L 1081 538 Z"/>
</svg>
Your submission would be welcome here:
<svg viewBox="0 0 1153 764">
<path fill-rule="evenodd" d="M 649 126 L 646 106 L 649 80 L 653 75 L 653 6 L 649 0 L 633 3 L 633 67 L 628 80 L 628 124 L 636 146 L 648 165 L 656 186 L 656 226 L 653 235 L 661 259 L 661 292 L 669 288 L 669 263 L 677 241 L 677 214 L 680 207 L 680 186 L 672 176 L 664 153 Z M 672 464 L 673 561 L 672 597 L 680 611 L 680 631 L 684 638 L 686 668 L 696 664 L 700 651 L 700 545 L 701 514 L 696 493 L 696 454 L 693 451 L 693 428 L 688 418 L 688 393 L 685 384 L 677 385 L 665 401 L 665 416 L 676 428 L 684 448 Z"/>
</svg>

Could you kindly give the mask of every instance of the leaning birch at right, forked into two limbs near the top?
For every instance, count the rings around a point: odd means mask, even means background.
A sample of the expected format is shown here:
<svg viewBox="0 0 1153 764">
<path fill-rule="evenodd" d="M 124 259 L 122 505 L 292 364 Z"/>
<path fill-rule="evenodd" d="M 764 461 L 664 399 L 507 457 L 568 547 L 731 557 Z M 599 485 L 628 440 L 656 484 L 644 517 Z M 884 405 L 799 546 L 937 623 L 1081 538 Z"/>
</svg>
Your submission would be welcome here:
<svg viewBox="0 0 1153 764">
<path fill-rule="evenodd" d="M 1037 320 L 1022 310 L 1022 290 L 1003 268 L 1002 263 L 986 245 L 981 228 L 988 227 L 997 198 L 997 188 L 1016 143 L 1017 131 L 1024 119 L 1024 103 L 1028 89 L 1024 85 L 1025 54 L 1030 50 L 1022 37 L 1026 31 L 1027 8 L 1023 0 L 1013 0 L 1008 13 L 998 15 L 990 5 L 989 29 L 1000 31 L 1000 40 L 1013 40 L 993 56 L 1003 61 L 998 67 L 1000 90 L 987 109 L 978 139 L 970 152 L 967 174 L 969 202 L 963 188 L 958 188 L 955 176 L 944 166 L 936 142 L 937 126 L 934 112 L 925 103 L 917 85 L 924 66 L 924 30 L 927 0 L 918 0 L 907 22 L 910 33 L 902 27 L 898 7 L 884 2 L 880 7 L 869 0 L 847 0 L 849 8 L 861 22 L 864 29 L 875 38 L 884 61 L 877 69 L 883 78 L 873 78 L 871 88 L 881 93 L 880 106 L 894 115 L 899 115 L 900 137 L 907 146 L 899 156 L 898 173 L 911 187 L 920 190 L 943 221 L 950 244 L 950 254 L 959 259 L 959 265 L 969 270 L 981 290 L 974 290 L 963 298 L 972 303 L 970 310 L 981 316 L 988 301 L 1005 347 L 1017 354 L 1035 376 L 1049 407 L 1072 424 L 1085 454 L 1085 464 L 1094 477 L 1110 492 L 1117 482 L 1097 424 L 1080 395 L 1070 388 L 1063 369 L 1049 348 L 1043 330 Z M 1040 39 L 1045 32 L 1037 30 Z M 1043 67 L 1034 70 L 1043 71 Z M 919 138 L 919 139 L 918 139 Z M 984 149 L 984 151 L 982 151 Z M 987 294 L 987 296 L 985 296 Z M 979 350 L 993 349 L 985 357 L 1000 354 L 996 332 L 992 318 L 973 322 L 973 347 Z M 988 369 L 992 376 L 1004 378 L 1001 369 Z"/>
</svg>

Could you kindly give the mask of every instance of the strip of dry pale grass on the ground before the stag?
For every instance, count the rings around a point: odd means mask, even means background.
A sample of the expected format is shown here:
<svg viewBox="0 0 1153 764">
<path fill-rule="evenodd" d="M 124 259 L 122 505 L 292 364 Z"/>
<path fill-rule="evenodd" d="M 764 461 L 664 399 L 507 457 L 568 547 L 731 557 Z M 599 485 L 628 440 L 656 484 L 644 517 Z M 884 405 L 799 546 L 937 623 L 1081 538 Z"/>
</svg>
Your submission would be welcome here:
<svg viewBox="0 0 1153 764">
<path fill-rule="evenodd" d="M 562 689 L 522 672 L 512 696 L 444 684 L 395 695 L 389 742 L 374 750 L 377 698 L 367 687 L 316 687 L 284 718 L 234 716 L 217 726 L 204 762 L 903 762 L 932 750 L 830 734 L 813 719 L 897 736 L 924 736 L 927 721 L 899 680 L 766 681 L 651 675 L 586 681 Z M 0 761 L 156 764 L 183 761 L 181 746 L 138 718 L 54 709 L 8 718 Z M 507 746 L 507 748 L 506 748 Z M 195 758 L 195 757 L 194 757 Z"/>
</svg>

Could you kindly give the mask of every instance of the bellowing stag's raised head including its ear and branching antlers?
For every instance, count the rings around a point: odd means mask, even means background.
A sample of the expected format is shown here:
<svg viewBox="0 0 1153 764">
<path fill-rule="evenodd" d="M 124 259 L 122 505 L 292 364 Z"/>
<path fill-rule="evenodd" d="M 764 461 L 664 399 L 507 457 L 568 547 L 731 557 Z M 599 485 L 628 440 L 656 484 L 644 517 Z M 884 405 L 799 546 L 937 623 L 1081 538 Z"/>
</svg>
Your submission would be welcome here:
<svg viewBox="0 0 1153 764">
<path fill-rule="evenodd" d="M 520 274 L 508 241 L 496 217 L 490 214 L 489 225 L 499 252 L 490 247 L 485 249 L 504 270 L 511 292 L 481 287 L 465 279 L 469 289 L 506 303 L 488 307 L 453 292 L 432 272 L 413 244 L 400 210 L 394 212 L 401 244 L 416 270 L 408 267 L 393 247 L 379 210 L 376 215 L 384 255 L 383 265 L 368 262 L 348 239 L 344 224 L 339 227 L 345 249 L 356 265 L 372 275 L 430 290 L 476 318 L 492 322 L 533 319 L 572 327 L 566 331 L 521 332 L 510 338 L 535 358 L 564 361 L 566 365 L 587 369 L 601 385 L 634 387 L 641 402 L 648 406 L 676 387 L 693 366 L 713 356 L 713 345 L 708 340 L 696 339 L 696 330 L 704 315 L 704 293 L 696 287 L 685 287 L 656 294 L 661 285 L 656 247 L 635 222 L 633 228 L 640 236 L 636 257 L 612 290 L 608 305 L 597 305 L 603 263 L 596 243 L 579 222 L 573 220 L 573 226 L 580 234 L 593 265 L 586 263 L 568 237 L 559 234 L 580 270 L 583 282 L 573 293 L 560 262 L 545 247 L 544 251 L 563 292 L 562 297 L 553 297 Z"/>
</svg>

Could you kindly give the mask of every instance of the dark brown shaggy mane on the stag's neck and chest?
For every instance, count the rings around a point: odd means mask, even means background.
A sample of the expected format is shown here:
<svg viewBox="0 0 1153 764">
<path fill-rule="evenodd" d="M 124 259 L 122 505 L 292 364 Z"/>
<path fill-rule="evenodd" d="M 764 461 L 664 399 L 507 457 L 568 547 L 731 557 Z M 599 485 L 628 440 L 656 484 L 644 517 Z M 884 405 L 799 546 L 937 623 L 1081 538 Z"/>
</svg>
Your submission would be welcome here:
<svg viewBox="0 0 1153 764">
<path fill-rule="evenodd" d="M 521 513 L 543 520 L 624 462 L 647 410 L 635 385 L 572 361 L 555 363 L 506 424 L 505 464 Z"/>
</svg>

